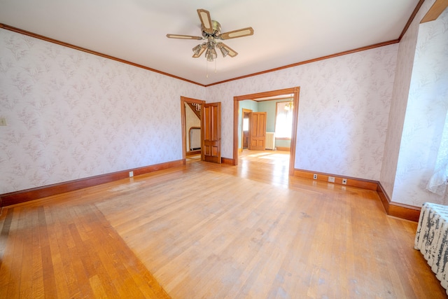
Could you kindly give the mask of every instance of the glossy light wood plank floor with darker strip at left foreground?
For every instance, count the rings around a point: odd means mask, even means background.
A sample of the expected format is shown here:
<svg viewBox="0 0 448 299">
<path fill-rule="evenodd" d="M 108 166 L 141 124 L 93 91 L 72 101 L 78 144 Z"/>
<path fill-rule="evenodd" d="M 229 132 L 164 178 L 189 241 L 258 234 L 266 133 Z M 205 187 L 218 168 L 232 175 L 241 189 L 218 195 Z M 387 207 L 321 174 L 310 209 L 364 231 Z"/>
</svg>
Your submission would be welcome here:
<svg viewBox="0 0 448 299">
<path fill-rule="evenodd" d="M 373 191 L 195 160 L 3 208 L 0 298 L 446 298 Z"/>
</svg>

